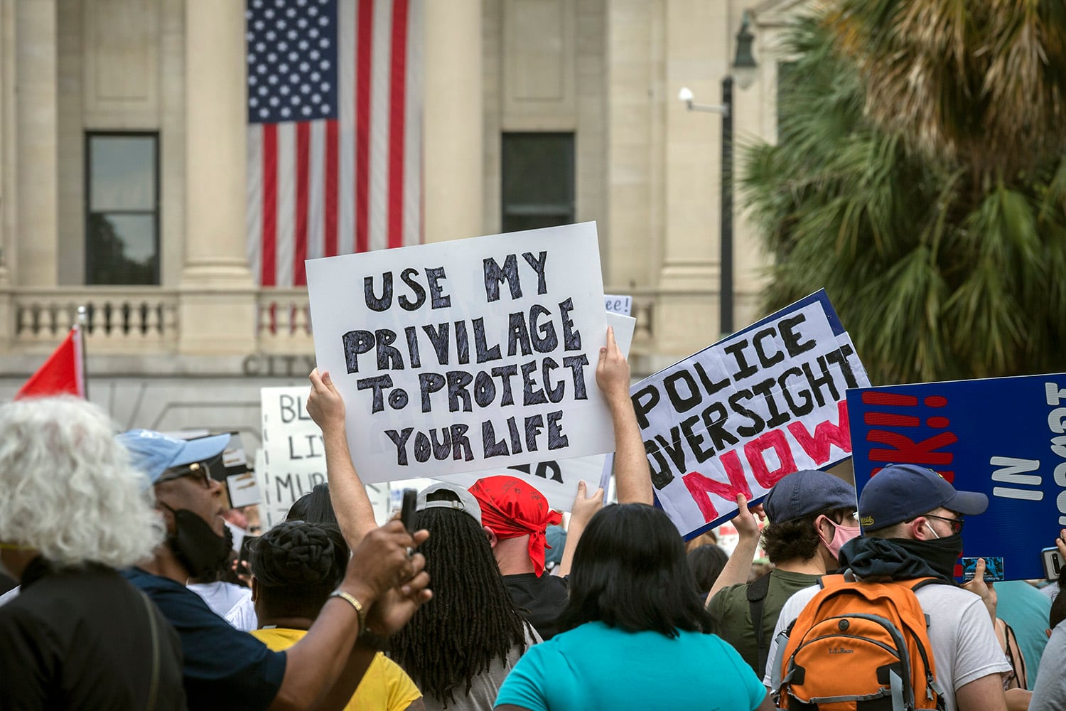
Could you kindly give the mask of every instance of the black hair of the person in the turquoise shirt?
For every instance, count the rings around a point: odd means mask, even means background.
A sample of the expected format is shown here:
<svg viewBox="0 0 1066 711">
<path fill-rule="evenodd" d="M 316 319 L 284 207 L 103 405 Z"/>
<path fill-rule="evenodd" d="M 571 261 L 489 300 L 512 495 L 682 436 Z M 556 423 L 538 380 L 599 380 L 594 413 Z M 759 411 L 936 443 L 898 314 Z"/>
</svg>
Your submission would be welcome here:
<svg viewBox="0 0 1066 711">
<path fill-rule="evenodd" d="M 588 521 L 574 553 L 559 626 L 569 630 L 596 620 L 669 637 L 678 630 L 714 631 L 677 528 L 659 508 L 617 504 Z"/>
</svg>

